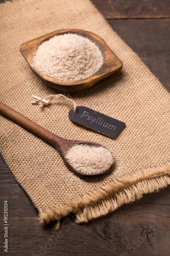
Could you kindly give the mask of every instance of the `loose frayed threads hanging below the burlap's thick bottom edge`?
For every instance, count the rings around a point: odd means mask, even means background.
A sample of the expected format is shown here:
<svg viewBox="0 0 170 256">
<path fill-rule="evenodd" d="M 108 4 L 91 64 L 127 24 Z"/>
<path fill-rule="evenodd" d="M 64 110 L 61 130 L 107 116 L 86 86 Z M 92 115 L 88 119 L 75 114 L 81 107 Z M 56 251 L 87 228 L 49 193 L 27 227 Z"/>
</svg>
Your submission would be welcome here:
<svg viewBox="0 0 170 256">
<path fill-rule="evenodd" d="M 125 188 L 114 194 L 110 200 L 103 200 L 99 204 L 86 207 L 76 214 L 76 223 L 88 222 L 94 218 L 105 216 L 111 211 L 115 211 L 123 204 L 134 202 L 142 198 L 144 194 L 153 193 L 160 188 L 165 188 L 170 184 L 169 176 L 142 180 L 128 188 Z"/>
</svg>

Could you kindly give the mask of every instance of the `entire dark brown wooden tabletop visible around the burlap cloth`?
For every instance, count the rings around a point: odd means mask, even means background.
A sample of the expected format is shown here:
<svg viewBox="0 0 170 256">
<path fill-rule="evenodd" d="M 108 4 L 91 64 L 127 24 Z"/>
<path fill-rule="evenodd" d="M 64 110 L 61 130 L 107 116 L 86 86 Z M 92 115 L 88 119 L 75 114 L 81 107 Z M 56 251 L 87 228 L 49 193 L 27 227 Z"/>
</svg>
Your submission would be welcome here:
<svg viewBox="0 0 170 256">
<path fill-rule="evenodd" d="M 119 8 L 123 12 L 127 3 L 150 5 L 151 13 L 155 13 L 154 6 L 159 5 L 162 18 L 154 19 L 151 15 L 151 19 L 143 19 L 143 16 L 140 19 L 110 19 L 108 22 L 170 92 L 170 19 L 165 18 L 169 14 L 169 1 L 120 2 Z M 110 8 L 106 0 L 95 1 L 95 4 L 100 10 L 102 5 L 102 8 Z M 0 254 L 5 254 L 2 245 L 3 204 L 8 200 L 9 255 L 169 255 L 170 186 L 86 224 L 76 224 L 75 216 L 70 215 L 53 236 L 52 226 L 39 225 L 37 209 L 2 158 L 0 168 Z"/>
</svg>

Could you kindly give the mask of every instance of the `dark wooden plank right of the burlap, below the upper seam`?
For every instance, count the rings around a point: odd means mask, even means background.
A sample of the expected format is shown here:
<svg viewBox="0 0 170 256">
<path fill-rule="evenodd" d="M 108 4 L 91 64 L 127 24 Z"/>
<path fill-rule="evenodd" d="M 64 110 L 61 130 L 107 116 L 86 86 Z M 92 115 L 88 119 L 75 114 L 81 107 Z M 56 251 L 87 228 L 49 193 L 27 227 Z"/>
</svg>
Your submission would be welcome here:
<svg viewBox="0 0 170 256">
<path fill-rule="evenodd" d="M 170 19 L 108 20 L 170 92 Z"/>
</svg>

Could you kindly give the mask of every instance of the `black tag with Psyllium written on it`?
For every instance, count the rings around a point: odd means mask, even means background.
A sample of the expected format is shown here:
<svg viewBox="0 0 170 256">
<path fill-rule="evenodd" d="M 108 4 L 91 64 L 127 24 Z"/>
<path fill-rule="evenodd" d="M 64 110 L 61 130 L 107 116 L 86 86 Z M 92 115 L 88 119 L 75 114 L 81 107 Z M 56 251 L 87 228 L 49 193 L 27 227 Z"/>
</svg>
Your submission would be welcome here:
<svg viewBox="0 0 170 256">
<path fill-rule="evenodd" d="M 73 113 L 72 110 L 68 114 L 72 121 L 111 138 L 115 138 L 125 126 L 124 122 L 86 108 L 85 106 L 77 106 L 76 113 Z"/>
</svg>

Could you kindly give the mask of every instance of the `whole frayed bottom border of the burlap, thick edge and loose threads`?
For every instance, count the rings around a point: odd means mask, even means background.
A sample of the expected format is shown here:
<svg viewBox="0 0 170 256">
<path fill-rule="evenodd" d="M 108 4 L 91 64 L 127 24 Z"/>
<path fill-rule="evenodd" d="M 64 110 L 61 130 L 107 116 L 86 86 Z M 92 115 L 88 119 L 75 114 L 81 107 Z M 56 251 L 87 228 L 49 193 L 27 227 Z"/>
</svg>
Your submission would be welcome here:
<svg viewBox="0 0 170 256">
<path fill-rule="evenodd" d="M 120 180 L 115 179 L 113 184 L 105 184 L 98 188 L 98 191 L 89 191 L 79 199 L 64 203 L 61 207 L 39 209 L 39 221 L 42 224 L 58 220 L 55 229 L 59 229 L 61 218 L 74 212 L 76 223 L 88 222 L 116 210 L 123 204 L 141 199 L 143 194 L 166 187 L 170 184 L 169 175 L 169 161 L 158 166 L 142 168 Z"/>
</svg>

